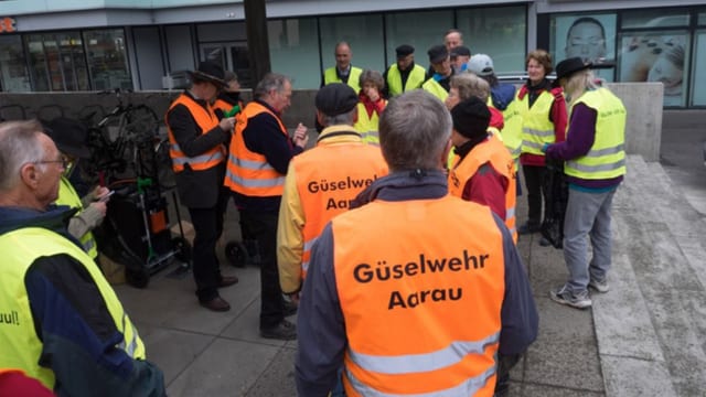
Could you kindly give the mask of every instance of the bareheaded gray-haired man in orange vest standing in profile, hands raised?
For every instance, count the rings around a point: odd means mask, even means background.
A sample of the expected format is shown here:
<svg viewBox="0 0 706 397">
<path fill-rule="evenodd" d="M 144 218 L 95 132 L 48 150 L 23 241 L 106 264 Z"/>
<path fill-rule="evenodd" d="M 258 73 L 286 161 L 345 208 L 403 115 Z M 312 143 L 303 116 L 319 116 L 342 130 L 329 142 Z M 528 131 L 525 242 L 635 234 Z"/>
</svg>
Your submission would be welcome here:
<svg viewBox="0 0 706 397">
<path fill-rule="evenodd" d="M 297 337 L 285 320 L 285 299 L 277 269 L 277 214 L 289 161 L 301 153 L 309 137 L 301 122 L 289 138 L 281 114 L 291 104 L 291 82 L 269 73 L 253 92 L 255 100 L 238 116 L 224 184 L 240 213 L 240 225 L 253 233 L 260 250 L 260 336 Z"/>
</svg>

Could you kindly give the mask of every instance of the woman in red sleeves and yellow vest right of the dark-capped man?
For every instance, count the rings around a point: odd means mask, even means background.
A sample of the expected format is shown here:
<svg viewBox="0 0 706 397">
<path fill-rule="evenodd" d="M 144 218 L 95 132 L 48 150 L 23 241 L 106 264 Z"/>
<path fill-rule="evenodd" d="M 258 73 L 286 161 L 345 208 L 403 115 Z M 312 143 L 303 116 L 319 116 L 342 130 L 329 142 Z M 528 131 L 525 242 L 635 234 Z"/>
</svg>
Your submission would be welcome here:
<svg viewBox="0 0 706 397">
<path fill-rule="evenodd" d="M 363 142 L 379 144 L 377 124 L 387 106 L 387 99 L 382 95 L 385 81 L 379 72 L 365 69 L 361 74 L 360 84 L 357 121 L 353 128 L 361 133 Z"/>
</svg>

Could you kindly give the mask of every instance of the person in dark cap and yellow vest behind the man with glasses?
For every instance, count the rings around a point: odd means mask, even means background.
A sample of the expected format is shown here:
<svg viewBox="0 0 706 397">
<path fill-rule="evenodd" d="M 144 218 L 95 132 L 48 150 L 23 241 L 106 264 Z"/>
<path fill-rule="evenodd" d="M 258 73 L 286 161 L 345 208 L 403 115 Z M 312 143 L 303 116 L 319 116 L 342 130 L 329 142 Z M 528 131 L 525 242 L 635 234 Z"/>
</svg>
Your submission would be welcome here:
<svg viewBox="0 0 706 397">
<path fill-rule="evenodd" d="M 86 146 L 86 130 L 76 121 L 57 118 L 50 122 L 46 135 L 62 152 L 66 168 L 58 184 L 56 205 L 68 205 L 76 210 L 76 214 L 68 222 L 68 233 L 81 240 L 84 250 L 97 260 L 98 247 L 92 230 L 98 227 L 106 216 L 108 189 L 96 186 L 84 197 L 81 197 L 69 181 L 77 171 L 78 161 L 90 158 L 90 150 Z"/>
</svg>

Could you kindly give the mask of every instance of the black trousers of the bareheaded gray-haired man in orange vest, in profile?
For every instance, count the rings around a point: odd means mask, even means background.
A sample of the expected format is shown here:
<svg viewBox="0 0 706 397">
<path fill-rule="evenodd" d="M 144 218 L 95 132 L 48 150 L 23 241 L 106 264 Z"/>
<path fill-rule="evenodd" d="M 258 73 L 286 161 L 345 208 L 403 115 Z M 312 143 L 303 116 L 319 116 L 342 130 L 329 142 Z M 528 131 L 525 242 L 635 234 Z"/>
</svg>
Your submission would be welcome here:
<svg viewBox="0 0 706 397">
<path fill-rule="evenodd" d="M 277 212 L 240 211 L 240 224 L 257 240 L 260 254 L 260 329 L 285 319 L 285 299 L 277 267 Z"/>
</svg>

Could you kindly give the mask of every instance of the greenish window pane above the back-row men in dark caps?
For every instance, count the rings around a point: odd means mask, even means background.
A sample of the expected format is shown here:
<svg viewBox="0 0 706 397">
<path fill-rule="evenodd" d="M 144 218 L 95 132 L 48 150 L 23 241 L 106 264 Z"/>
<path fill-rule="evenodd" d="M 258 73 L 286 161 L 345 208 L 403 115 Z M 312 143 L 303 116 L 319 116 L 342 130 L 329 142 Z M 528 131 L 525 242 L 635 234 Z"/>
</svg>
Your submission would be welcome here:
<svg viewBox="0 0 706 397">
<path fill-rule="evenodd" d="M 427 51 L 432 45 L 443 44 L 443 34 L 451 28 L 453 28 L 452 11 L 411 11 L 386 14 L 387 63 L 395 62 L 397 46 L 409 44 L 415 47 L 415 62 L 428 68 Z"/>
</svg>

